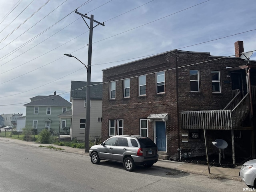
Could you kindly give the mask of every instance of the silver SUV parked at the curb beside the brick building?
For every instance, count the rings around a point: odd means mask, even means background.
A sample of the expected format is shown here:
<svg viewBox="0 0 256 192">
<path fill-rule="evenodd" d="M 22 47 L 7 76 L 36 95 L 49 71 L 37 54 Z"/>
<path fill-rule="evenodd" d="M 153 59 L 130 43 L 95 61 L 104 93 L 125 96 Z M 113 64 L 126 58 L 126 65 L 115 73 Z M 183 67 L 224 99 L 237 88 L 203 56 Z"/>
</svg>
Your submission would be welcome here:
<svg viewBox="0 0 256 192">
<path fill-rule="evenodd" d="M 148 137 L 116 135 L 89 150 L 93 164 L 100 160 L 123 163 L 127 171 L 133 171 L 137 165 L 151 167 L 158 161 L 156 144 Z"/>
</svg>

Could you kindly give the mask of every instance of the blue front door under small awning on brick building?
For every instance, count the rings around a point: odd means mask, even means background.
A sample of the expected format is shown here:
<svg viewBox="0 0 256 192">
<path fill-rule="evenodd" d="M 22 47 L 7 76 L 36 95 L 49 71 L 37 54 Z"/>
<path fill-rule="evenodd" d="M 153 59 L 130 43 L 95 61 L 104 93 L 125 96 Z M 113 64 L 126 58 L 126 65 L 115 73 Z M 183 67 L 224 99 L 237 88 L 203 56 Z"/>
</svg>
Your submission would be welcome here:
<svg viewBox="0 0 256 192">
<path fill-rule="evenodd" d="M 166 151 L 165 122 L 156 121 L 156 146 L 158 151 Z"/>
</svg>

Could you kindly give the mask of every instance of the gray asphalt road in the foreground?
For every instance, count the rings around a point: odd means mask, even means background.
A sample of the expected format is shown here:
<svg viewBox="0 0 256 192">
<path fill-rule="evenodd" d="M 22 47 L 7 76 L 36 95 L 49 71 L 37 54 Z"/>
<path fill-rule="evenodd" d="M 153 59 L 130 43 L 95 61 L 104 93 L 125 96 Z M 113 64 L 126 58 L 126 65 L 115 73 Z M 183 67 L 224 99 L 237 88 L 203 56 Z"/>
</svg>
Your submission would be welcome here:
<svg viewBox="0 0 256 192">
<path fill-rule="evenodd" d="M 0 192 L 241 192 L 243 182 L 177 170 L 90 162 L 89 156 L 0 140 Z"/>
</svg>

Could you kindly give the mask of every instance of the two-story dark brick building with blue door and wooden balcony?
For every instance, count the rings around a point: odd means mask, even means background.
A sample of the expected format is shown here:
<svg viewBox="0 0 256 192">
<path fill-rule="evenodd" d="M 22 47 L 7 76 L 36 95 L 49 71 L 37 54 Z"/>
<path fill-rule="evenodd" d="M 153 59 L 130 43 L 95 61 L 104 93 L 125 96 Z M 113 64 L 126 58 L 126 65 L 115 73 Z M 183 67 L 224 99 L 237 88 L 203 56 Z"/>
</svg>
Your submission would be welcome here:
<svg viewBox="0 0 256 192">
<path fill-rule="evenodd" d="M 211 56 L 206 52 L 172 50 L 105 69 L 102 140 L 116 134 L 144 135 L 157 144 L 161 158 L 180 158 L 178 148 L 200 156 L 205 154 L 200 124 L 204 119 L 210 154 L 218 153 L 212 145 L 217 138 L 228 142 L 226 153 L 233 156 L 233 162 L 235 149 L 245 156 L 254 154 L 250 151 L 255 129 L 252 108 L 246 106 L 249 109 L 236 124 L 231 112 L 240 100 L 248 98 L 249 68 L 249 86 L 255 91 L 255 61 L 248 65 L 239 57 Z M 239 138 L 241 131 L 243 136 Z M 235 147 L 241 144 L 249 150 Z"/>
</svg>

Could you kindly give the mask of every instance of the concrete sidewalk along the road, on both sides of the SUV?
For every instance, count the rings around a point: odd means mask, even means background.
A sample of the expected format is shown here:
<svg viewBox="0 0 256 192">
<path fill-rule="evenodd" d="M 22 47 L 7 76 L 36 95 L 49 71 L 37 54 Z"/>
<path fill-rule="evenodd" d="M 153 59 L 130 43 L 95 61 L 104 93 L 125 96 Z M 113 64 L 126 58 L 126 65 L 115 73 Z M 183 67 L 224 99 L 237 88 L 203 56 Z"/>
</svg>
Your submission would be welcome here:
<svg viewBox="0 0 256 192">
<path fill-rule="evenodd" d="M 0 137 L 0 140 L 16 143 L 18 145 L 26 145 L 26 146 L 32 146 L 32 147 L 39 147 L 40 145 L 54 146 L 56 148 L 64 149 L 63 150 L 64 152 L 70 152 L 70 153 L 76 153 L 76 154 L 88 156 L 88 153 L 84 152 L 84 149 L 77 149 L 77 148 L 59 146 L 54 144 L 39 144 L 35 142 L 26 142 L 26 141 L 6 138 L 6 137 Z M 176 162 L 176 161 L 159 159 L 158 162 L 156 162 L 153 166 L 165 168 L 165 169 L 176 169 L 181 172 L 187 172 L 192 174 L 206 175 L 211 178 L 217 178 L 217 179 L 224 178 L 224 179 L 242 181 L 241 178 L 239 177 L 239 171 L 241 166 L 237 166 L 236 168 L 223 168 L 223 167 L 210 166 L 210 174 L 209 174 L 208 166 L 200 165 L 200 164 L 192 164 L 192 163 L 184 163 L 184 162 Z"/>
</svg>

